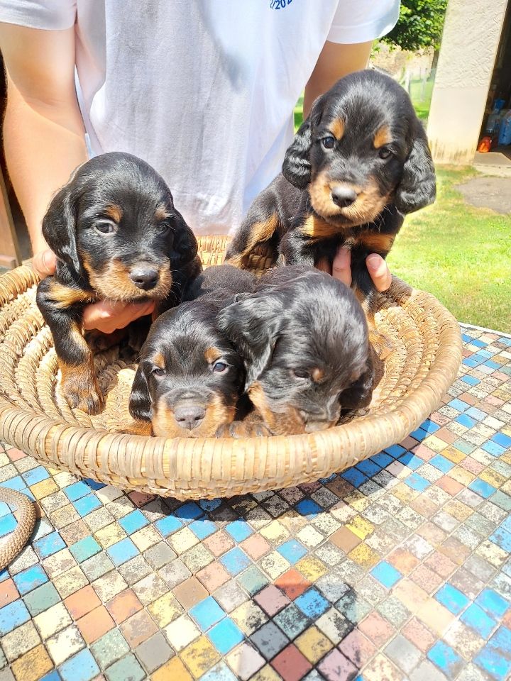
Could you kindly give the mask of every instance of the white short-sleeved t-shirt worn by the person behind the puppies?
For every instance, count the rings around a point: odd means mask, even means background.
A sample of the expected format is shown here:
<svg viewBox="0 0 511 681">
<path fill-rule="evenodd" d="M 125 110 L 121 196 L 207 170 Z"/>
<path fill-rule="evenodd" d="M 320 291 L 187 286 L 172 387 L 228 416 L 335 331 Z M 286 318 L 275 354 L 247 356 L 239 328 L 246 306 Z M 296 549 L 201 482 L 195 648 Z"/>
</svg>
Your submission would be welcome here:
<svg viewBox="0 0 511 681">
<path fill-rule="evenodd" d="M 169 184 L 197 234 L 236 229 L 278 175 L 292 110 L 326 40 L 395 25 L 399 0 L 0 0 L 0 21 L 76 26 L 92 153 L 126 151 Z"/>
</svg>

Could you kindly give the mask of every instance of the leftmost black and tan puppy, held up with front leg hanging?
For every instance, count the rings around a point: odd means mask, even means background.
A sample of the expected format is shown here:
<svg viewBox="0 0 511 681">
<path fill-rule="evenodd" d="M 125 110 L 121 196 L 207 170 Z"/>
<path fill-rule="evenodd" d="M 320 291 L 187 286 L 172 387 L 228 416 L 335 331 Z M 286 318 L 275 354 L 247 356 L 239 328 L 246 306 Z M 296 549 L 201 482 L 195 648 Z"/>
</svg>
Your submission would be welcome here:
<svg viewBox="0 0 511 681">
<path fill-rule="evenodd" d="M 178 304 L 201 269 L 197 241 L 163 178 L 124 153 L 75 171 L 50 203 L 43 236 L 57 271 L 40 282 L 37 301 L 53 333 L 62 392 L 72 407 L 94 414 L 103 399 L 82 330 L 84 306 L 152 299 L 160 312 Z"/>
</svg>

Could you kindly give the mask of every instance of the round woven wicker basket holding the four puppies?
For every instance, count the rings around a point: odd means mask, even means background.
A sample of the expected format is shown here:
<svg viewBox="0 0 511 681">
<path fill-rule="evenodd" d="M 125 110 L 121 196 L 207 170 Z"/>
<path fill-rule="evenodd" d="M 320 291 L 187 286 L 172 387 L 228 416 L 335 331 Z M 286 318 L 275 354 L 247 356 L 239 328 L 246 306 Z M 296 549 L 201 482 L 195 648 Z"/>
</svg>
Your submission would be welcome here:
<svg viewBox="0 0 511 681">
<path fill-rule="evenodd" d="M 226 238 L 199 240 L 204 265 L 220 264 Z M 264 251 L 253 270 L 272 264 Z M 373 402 L 356 419 L 309 435 L 242 440 L 128 436 L 136 366 L 112 348 L 96 358 L 106 408 L 73 411 L 60 394 L 57 358 L 35 305 L 29 267 L 0 277 L 0 439 L 41 463 L 80 477 L 179 499 L 230 497 L 318 480 L 402 441 L 439 405 L 461 361 L 451 314 L 427 293 L 394 279 L 382 294 L 378 328 L 395 350 Z"/>
</svg>

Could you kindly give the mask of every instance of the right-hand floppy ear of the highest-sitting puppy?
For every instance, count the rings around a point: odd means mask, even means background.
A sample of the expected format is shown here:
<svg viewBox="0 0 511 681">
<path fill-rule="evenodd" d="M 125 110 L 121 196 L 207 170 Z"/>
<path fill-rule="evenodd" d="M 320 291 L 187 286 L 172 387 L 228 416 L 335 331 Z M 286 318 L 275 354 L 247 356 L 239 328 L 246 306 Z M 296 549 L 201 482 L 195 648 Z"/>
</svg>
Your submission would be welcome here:
<svg viewBox="0 0 511 681">
<path fill-rule="evenodd" d="M 427 136 L 422 123 L 414 122 L 412 150 L 405 161 L 395 206 L 400 213 L 413 213 L 432 204 L 436 197 L 436 178 Z"/>
</svg>

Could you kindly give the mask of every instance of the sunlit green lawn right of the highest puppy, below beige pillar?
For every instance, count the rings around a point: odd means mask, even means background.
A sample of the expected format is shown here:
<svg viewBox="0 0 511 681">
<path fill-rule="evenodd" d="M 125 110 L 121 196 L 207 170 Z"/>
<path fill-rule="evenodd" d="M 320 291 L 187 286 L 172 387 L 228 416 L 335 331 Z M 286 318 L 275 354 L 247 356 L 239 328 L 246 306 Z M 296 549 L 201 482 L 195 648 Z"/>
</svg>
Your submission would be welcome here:
<svg viewBox="0 0 511 681">
<path fill-rule="evenodd" d="M 437 169 L 436 203 L 406 218 L 388 263 L 458 321 L 511 333 L 511 218 L 465 203 L 454 185 L 474 175 Z"/>
</svg>

